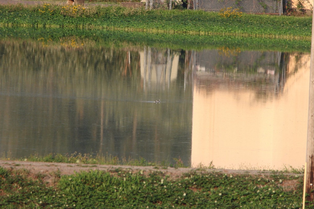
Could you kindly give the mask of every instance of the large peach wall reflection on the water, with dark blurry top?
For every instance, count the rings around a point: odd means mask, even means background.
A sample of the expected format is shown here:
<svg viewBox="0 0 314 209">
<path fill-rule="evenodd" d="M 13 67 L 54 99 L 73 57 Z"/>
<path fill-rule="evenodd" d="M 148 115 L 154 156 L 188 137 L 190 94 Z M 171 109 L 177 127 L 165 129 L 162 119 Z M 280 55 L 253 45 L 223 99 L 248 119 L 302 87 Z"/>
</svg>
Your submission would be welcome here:
<svg viewBox="0 0 314 209">
<path fill-rule="evenodd" d="M 234 75 L 217 67 L 211 71 L 210 62 L 202 65 L 200 56 L 193 90 L 192 166 L 211 161 L 231 169 L 304 165 L 310 55 L 280 57 L 274 56 L 275 67 Z M 258 85 L 258 80 L 263 82 Z"/>
</svg>

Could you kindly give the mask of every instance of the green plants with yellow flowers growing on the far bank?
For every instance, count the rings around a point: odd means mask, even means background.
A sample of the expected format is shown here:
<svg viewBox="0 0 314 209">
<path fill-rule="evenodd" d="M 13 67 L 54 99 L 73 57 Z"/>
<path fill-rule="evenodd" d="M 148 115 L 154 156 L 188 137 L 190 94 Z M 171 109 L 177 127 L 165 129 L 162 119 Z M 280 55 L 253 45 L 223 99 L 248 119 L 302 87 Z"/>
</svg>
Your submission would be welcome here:
<svg viewBox="0 0 314 209">
<path fill-rule="evenodd" d="M 311 17 L 243 14 L 223 17 L 194 10 L 123 7 L 0 5 L 0 25 L 114 29 L 146 33 L 230 35 L 310 40 Z"/>
</svg>

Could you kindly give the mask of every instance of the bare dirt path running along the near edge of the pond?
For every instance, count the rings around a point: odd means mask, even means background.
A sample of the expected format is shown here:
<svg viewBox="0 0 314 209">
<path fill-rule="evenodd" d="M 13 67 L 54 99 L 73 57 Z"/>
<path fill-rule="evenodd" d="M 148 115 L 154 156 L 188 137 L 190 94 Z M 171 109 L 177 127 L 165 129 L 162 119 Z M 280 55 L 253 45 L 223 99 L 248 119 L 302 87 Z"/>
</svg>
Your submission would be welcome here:
<svg viewBox="0 0 314 209">
<path fill-rule="evenodd" d="M 92 164 L 75 164 L 75 163 L 46 163 L 46 162 L 28 162 L 28 161 L 12 161 L 12 160 L 0 160 L 0 167 L 19 170 L 28 170 L 28 176 L 31 178 L 37 178 L 38 174 L 45 176 L 44 182 L 48 185 L 55 185 L 57 175 L 71 175 L 75 172 L 90 171 L 90 170 L 102 170 L 115 174 L 120 170 L 125 170 L 132 173 L 138 173 L 143 171 L 144 174 L 151 172 L 162 172 L 163 175 L 168 175 L 170 179 L 177 179 L 183 174 L 188 172 L 222 172 L 226 174 L 248 174 L 248 175 L 271 175 L 273 172 L 265 172 L 260 170 L 226 170 L 226 169 L 196 169 L 196 168 L 161 168 L 153 166 L 129 166 L 129 165 L 92 165 Z M 302 174 L 286 174 L 286 175 L 302 175 Z M 280 186 L 284 190 L 294 190 L 298 186 L 298 180 L 285 180 Z"/>
</svg>

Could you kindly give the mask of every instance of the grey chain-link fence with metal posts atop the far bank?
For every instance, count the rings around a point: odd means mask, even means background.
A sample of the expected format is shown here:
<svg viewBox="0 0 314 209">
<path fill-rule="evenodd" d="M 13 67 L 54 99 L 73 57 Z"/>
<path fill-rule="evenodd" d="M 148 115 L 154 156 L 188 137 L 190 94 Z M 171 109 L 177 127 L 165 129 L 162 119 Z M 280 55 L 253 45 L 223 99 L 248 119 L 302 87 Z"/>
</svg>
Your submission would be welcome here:
<svg viewBox="0 0 314 209">
<path fill-rule="evenodd" d="M 282 13 L 282 0 L 146 0 L 146 9 L 201 9 L 217 12 L 223 8 L 239 8 L 245 13 Z"/>
</svg>

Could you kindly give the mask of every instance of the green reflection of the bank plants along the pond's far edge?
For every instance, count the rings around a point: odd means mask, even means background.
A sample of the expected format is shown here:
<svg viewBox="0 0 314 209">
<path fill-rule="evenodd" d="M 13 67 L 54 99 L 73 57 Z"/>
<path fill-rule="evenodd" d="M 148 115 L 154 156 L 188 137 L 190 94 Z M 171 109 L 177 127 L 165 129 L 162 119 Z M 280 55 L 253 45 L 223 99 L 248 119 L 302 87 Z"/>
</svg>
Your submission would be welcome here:
<svg viewBox="0 0 314 209">
<path fill-rule="evenodd" d="M 31 37 L 31 38 L 30 38 Z M 232 36 L 203 36 L 188 34 L 152 34 L 141 32 L 125 32 L 116 30 L 97 29 L 60 29 L 60 28 L 25 28 L 0 27 L 0 38 L 16 38 L 37 42 L 39 39 L 48 45 L 60 44 L 64 37 L 75 37 L 77 42 L 88 43 L 84 47 L 111 46 L 125 47 L 126 44 L 135 46 L 153 46 L 156 48 L 171 48 L 183 50 L 216 49 L 218 47 L 241 48 L 242 50 L 273 50 L 309 52 L 311 41 L 265 39 Z M 92 42 L 92 43 L 91 43 Z"/>
</svg>

